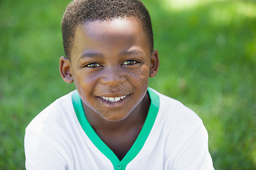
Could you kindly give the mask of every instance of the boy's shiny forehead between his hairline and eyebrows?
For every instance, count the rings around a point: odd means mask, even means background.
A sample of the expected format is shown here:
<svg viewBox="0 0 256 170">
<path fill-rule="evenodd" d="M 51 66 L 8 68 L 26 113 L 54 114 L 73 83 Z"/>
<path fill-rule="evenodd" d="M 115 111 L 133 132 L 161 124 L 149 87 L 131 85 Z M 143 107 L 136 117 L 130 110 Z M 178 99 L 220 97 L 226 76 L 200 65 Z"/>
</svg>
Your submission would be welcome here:
<svg viewBox="0 0 256 170">
<path fill-rule="evenodd" d="M 150 49 L 146 34 L 137 19 L 96 20 L 76 28 L 72 51 L 120 49 L 134 45 Z"/>
</svg>

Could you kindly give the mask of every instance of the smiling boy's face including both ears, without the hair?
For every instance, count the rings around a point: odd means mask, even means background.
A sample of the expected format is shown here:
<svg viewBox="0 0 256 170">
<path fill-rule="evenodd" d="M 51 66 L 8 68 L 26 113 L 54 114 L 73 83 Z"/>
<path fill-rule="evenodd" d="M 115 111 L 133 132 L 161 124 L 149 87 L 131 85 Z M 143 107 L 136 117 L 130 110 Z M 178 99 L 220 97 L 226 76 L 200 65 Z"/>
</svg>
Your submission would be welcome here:
<svg viewBox="0 0 256 170">
<path fill-rule="evenodd" d="M 143 29 L 131 18 L 80 25 L 70 61 L 60 58 L 61 76 L 75 83 L 85 112 L 108 121 L 125 119 L 141 103 L 157 71 L 158 52 L 150 54 Z"/>
</svg>

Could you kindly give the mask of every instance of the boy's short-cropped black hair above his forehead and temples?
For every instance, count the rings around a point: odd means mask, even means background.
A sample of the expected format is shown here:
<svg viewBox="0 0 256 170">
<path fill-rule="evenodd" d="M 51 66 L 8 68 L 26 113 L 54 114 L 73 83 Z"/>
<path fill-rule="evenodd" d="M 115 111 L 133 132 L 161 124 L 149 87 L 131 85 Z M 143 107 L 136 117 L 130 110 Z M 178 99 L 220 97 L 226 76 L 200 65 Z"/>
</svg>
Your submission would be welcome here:
<svg viewBox="0 0 256 170">
<path fill-rule="evenodd" d="M 146 33 L 150 50 L 154 39 L 150 14 L 139 0 L 75 0 L 69 3 L 61 22 L 65 56 L 70 59 L 76 28 L 96 20 L 135 18 Z"/>
</svg>

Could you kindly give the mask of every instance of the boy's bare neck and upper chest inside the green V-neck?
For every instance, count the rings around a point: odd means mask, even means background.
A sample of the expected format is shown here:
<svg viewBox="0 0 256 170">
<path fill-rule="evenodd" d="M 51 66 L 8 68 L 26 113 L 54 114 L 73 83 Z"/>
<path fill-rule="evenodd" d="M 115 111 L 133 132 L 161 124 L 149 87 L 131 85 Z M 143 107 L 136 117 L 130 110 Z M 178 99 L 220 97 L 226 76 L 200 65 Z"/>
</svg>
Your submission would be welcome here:
<svg viewBox="0 0 256 170">
<path fill-rule="evenodd" d="M 142 105 L 134 109 L 124 120 L 112 122 L 112 126 L 109 126 L 109 122 L 100 119 L 101 124 L 98 124 L 98 121 L 95 116 L 90 117 L 86 115 L 86 118 L 92 125 L 93 129 L 96 131 L 98 136 L 102 141 L 117 155 L 119 160 L 122 160 L 123 157 L 130 150 L 131 146 L 137 139 L 144 121 L 146 120 L 148 108 L 150 106 L 150 99 L 148 94 L 146 94 L 146 100 L 142 100 Z M 140 114 L 138 111 L 142 111 Z M 96 115 L 97 116 L 97 115 Z M 98 116 L 97 116 L 98 117 Z"/>
</svg>

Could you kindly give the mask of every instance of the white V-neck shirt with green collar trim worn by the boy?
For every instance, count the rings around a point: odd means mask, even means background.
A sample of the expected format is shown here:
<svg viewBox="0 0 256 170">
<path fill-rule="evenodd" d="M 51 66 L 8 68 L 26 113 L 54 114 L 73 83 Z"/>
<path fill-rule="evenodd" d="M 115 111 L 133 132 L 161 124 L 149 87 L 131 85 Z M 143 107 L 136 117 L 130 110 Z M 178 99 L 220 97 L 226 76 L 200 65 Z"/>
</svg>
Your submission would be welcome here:
<svg viewBox="0 0 256 170">
<path fill-rule="evenodd" d="M 27 169 L 214 169 L 208 133 L 191 109 L 148 88 L 141 133 L 121 160 L 86 120 L 77 91 L 60 97 L 26 128 Z"/>
</svg>

